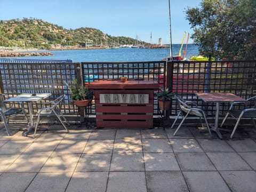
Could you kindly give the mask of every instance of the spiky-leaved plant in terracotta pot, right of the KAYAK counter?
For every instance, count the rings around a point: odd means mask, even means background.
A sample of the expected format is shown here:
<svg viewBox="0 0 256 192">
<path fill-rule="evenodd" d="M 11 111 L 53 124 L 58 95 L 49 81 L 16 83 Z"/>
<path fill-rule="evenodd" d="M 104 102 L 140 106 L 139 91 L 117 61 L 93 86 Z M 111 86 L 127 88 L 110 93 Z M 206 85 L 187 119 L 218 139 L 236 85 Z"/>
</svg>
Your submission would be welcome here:
<svg viewBox="0 0 256 192">
<path fill-rule="evenodd" d="M 167 89 L 161 89 L 160 92 L 156 92 L 155 96 L 158 99 L 158 106 L 161 110 L 169 110 L 171 106 L 171 98 L 174 95 L 173 92 Z"/>
</svg>

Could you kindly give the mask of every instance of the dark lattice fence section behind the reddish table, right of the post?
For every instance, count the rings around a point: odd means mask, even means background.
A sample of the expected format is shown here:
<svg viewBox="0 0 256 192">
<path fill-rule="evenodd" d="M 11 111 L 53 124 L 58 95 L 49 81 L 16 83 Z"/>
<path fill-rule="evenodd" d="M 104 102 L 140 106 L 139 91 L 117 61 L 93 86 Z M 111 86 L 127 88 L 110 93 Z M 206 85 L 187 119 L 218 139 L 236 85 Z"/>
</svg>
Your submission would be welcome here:
<svg viewBox="0 0 256 192">
<path fill-rule="evenodd" d="M 196 101 L 208 116 L 214 115 L 215 104 L 198 100 L 195 92 L 230 92 L 245 99 L 256 94 L 256 61 L 172 61 L 170 64 L 167 84 L 171 90 L 183 99 Z M 225 115 L 228 108 L 229 103 L 221 103 L 220 115 Z M 172 109 L 172 115 L 177 114 L 175 101 Z"/>
</svg>

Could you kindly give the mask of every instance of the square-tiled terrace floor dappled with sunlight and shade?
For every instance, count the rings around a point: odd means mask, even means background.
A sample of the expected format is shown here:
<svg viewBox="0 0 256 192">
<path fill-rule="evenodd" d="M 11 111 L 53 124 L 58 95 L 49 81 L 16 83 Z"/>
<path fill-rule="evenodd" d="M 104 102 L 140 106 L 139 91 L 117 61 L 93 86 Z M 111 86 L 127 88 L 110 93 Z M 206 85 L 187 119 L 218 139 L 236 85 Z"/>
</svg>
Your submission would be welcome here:
<svg viewBox="0 0 256 192">
<path fill-rule="evenodd" d="M 255 191 L 256 130 L 220 140 L 195 126 L 0 130 L 0 191 Z M 61 129 L 59 129 L 61 128 Z M 242 131 L 242 130 L 241 130 Z M 246 134 L 244 134 L 246 133 Z"/>
</svg>

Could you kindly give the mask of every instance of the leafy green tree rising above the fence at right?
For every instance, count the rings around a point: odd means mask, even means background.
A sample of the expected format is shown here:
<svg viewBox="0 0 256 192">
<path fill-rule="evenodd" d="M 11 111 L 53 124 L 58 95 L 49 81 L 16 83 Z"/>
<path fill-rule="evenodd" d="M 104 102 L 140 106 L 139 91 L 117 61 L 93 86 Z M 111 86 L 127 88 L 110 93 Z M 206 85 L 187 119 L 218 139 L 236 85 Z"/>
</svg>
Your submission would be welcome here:
<svg viewBox="0 0 256 192">
<path fill-rule="evenodd" d="M 203 0 L 185 12 L 201 54 L 256 59 L 255 0 Z"/>
</svg>

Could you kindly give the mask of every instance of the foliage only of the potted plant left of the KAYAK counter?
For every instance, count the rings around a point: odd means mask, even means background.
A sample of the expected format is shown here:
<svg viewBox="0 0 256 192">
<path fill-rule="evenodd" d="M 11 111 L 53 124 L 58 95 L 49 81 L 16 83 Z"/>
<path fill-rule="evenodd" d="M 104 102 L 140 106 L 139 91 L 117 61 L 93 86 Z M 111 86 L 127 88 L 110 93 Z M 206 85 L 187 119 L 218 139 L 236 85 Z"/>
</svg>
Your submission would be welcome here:
<svg viewBox="0 0 256 192">
<path fill-rule="evenodd" d="M 93 99 L 93 92 L 83 85 L 78 85 L 76 79 L 74 79 L 70 86 L 69 90 L 71 92 L 71 99 L 81 101 L 87 99 Z"/>
</svg>

